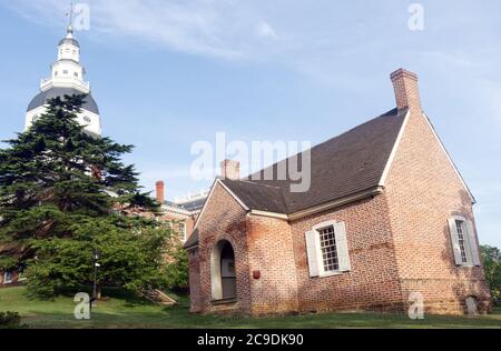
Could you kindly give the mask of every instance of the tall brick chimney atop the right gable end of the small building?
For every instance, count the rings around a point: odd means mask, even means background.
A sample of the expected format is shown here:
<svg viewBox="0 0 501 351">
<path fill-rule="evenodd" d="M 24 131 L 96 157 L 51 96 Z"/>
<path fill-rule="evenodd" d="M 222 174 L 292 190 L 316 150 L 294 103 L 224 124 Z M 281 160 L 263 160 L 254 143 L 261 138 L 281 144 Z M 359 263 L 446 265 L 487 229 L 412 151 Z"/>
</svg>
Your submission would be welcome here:
<svg viewBox="0 0 501 351">
<path fill-rule="evenodd" d="M 399 110 L 422 112 L 418 74 L 400 69 L 391 76 Z"/>
</svg>

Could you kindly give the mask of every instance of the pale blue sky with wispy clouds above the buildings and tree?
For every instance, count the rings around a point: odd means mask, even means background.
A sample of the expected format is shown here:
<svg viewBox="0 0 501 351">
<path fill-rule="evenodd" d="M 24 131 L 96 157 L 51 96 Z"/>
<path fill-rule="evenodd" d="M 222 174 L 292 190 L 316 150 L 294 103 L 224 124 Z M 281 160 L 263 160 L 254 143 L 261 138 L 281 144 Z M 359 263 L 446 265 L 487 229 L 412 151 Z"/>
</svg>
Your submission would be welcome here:
<svg viewBox="0 0 501 351">
<path fill-rule="evenodd" d="M 189 177 L 191 147 L 217 132 L 317 144 L 386 112 L 390 73 L 404 67 L 478 200 L 480 241 L 501 247 L 500 1 L 81 2 L 90 27 L 76 36 L 104 133 L 136 146 L 126 161 L 145 191 L 160 179 L 170 199 L 207 190 Z M 22 131 L 68 8 L 0 0 L 0 140 Z"/>
</svg>

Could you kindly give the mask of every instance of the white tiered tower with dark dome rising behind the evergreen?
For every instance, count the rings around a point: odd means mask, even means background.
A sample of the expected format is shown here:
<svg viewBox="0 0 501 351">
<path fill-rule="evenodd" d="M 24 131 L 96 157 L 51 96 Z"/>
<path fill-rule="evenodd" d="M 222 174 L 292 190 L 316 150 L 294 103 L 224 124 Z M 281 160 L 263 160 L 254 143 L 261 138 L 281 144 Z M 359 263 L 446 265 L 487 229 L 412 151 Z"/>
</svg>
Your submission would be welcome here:
<svg viewBox="0 0 501 351">
<path fill-rule="evenodd" d="M 28 106 L 26 114 L 26 129 L 33 119 L 46 111 L 49 99 L 72 94 L 87 94 L 82 112 L 78 121 L 86 126 L 85 130 L 95 136 L 101 136 L 101 121 L 99 108 L 94 100 L 89 82 L 85 81 L 86 70 L 80 63 L 80 44 L 73 37 L 71 24 L 68 27 L 67 36 L 58 46 L 58 60 L 51 66 L 51 77 L 41 80 L 40 93 L 37 94 Z"/>
</svg>

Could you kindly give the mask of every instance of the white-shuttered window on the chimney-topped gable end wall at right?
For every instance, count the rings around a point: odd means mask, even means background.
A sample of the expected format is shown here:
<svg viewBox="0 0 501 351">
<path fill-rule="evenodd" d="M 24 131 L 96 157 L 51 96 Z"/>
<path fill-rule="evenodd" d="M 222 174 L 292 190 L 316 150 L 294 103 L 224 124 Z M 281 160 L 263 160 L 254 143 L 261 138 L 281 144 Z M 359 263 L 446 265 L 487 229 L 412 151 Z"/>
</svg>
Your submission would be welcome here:
<svg viewBox="0 0 501 351">
<path fill-rule="evenodd" d="M 480 250 L 473 222 L 461 215 L 449 219 L 452 252 L 459 267 L 481 265 Z"/>
</svg>

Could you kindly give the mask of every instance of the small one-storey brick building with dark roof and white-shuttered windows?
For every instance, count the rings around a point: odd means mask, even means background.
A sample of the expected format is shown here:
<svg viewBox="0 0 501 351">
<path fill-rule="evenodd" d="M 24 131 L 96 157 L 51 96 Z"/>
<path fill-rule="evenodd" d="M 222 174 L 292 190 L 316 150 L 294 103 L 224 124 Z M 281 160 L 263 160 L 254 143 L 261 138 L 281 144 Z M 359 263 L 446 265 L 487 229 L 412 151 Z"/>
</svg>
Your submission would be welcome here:
<svg viewBox="0 0 501 351">
<path fill-rule="evenodd" d="M 308 191 L 223 164 L 185 244 L 193 312 L 403 312 L 416 293 L 429 313 L 491 309 L 475 200 L 422 110 L 418 77 L 391 78 L 395 109 L 311 150 Z"/>
</svg>

